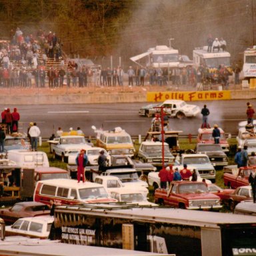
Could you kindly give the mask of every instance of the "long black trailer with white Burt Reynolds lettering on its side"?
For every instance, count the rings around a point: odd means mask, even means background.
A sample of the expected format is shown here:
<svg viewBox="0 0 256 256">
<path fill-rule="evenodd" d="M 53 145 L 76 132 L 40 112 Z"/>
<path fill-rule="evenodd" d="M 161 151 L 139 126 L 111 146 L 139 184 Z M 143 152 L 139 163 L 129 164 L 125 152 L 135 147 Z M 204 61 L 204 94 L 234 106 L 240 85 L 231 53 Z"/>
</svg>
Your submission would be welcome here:
<svg viewBox="0 0 256 256">
<path fill-rule="evenodd" d="M 177 256 L 256 251 L 256 218 L 232 213 L 111 203 L 56 207 L 54 223 L 57 239 L 71 244 L 151 251 L 159 241 Z"/>
</svg>

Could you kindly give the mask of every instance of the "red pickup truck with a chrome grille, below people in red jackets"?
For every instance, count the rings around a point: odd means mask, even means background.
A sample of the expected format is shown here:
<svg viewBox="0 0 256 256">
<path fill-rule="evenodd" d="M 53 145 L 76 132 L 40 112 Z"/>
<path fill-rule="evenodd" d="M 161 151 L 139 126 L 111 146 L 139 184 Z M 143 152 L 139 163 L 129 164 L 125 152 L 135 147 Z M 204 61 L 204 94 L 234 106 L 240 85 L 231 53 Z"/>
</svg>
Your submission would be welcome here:
<svg viewBox="0 0 256 256">
<path fill-rule="evenodd" d="M 169 189 L 156 189 L 155 203 L 181 209 L 221 209 L 220 198 L 199 181 L 173 181 Z"/>
</svg>

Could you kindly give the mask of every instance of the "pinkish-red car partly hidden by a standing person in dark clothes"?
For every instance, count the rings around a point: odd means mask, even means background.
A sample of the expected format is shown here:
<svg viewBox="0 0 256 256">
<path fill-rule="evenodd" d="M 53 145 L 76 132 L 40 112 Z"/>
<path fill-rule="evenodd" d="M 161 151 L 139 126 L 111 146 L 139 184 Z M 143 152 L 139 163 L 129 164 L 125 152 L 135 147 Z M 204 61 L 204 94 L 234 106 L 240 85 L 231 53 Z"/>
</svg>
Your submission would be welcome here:
<svg viewBox="0 0 256 256">
<path fill-rule="evenodd" d="M 224 152 L 229 152 L 229 143 L 227 142 L 225 132 L 221 128 L 219 128 L 219 130 L 221 132 L 219 144 L 221 145 Z M 213 134 L 213 128 L 203 128 L 203 129 L 199 128 L 198 135 L 197 135 L 197 143 L 214 144 L 214 139 L 212 134 Z"/>
</svg>

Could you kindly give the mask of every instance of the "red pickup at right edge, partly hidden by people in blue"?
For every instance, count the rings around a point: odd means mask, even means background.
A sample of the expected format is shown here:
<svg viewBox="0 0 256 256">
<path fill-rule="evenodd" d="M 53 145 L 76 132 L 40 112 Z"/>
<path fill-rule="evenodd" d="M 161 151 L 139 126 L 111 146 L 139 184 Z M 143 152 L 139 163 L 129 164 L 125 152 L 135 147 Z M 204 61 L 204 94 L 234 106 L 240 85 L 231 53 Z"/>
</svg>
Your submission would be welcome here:
<svg viewBox="0 0 256 256">
<path fill-rule="evenodd" d="M 256 166 L 240 167 L 238 170 L 232 170 L 232 173 L 224 173 L 225 186 L 236 189 L 249 185 L 248 178 L 253 169 L 256 169 Z"/>
</svg>

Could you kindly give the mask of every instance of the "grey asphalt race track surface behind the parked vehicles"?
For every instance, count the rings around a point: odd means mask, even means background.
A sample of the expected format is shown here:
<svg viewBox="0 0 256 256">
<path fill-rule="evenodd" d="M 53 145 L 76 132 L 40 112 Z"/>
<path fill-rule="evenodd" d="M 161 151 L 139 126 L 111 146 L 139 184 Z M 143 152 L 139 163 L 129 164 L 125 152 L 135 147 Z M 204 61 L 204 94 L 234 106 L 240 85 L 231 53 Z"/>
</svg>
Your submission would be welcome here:
<svg viewBox="0 0 256 256">
<path fill-rule="evenodd" d="M 254 105 L 254 101 L 249 100 Z M 191 101 L 188 104 L 198 105 L 200 109 L 204 104 L 210 111 L 209 123 L 211 127 L 215 123 L 223 128 L 225 133 L 237 135 L 239 121 L 247 119 L 247 99 L 227 101 Z M 145 103 L 107 103 L 107 104 L 79 104 L 79 105 L 0 105 L 1 109 L 17 107 L 20 115 L 20 131 L 27 133 L 30 122 L 36 122 L 41 129 L 41 136 L 49 138 L 52 133 L 61 127 L 68 131 L 69 127 L 77 129 L 81 127 L 86 136 L 94 136 L 92 125 L 104 130 L 114 127 L 125 129 L 132 136 L 146 135 L 151 118 L 141 117 L 139 108 L 149 104 Z M 173 130 L 181 130 L 184 135 L 197 134 L 201 126 L 201 114 L 197 117 L 185 119 L 169 119 L 169 127 Z"/>
</svg>

